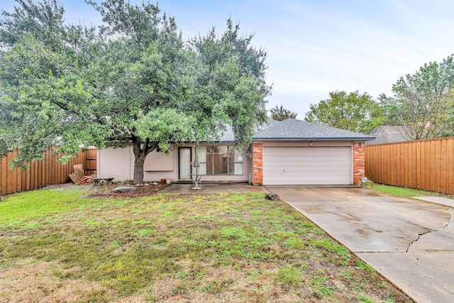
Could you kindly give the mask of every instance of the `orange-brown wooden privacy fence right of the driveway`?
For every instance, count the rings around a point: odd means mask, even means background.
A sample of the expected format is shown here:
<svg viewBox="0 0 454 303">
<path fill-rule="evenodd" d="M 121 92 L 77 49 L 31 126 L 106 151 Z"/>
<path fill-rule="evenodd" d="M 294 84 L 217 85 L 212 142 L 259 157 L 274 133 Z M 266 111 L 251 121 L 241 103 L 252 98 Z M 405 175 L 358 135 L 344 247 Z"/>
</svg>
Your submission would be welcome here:
<svg viewBox="0 0 454 303">
<path fill-rule="evenodd" d="M 366 145 L 370 180 L 430 192 L 454 194 L 454 137 Z"/>
</svg>

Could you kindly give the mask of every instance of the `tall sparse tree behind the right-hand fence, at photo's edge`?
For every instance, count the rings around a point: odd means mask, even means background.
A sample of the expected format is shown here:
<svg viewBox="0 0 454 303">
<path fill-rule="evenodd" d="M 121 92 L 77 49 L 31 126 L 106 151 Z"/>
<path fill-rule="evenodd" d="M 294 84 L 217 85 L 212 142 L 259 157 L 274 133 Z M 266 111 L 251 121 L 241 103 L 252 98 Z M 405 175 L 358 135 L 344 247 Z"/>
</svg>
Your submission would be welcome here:
<svg viewBox="0 0 454 303">
<path fill-rule="evenodd" d="M 429 62 L 414 75 L 400 77 L 392 86 L 394 97 L 387 106 L 393 120 L 407 126 L 402 135 L 411 140 L 452 136 L 453 124 L 453 56 L 442 62 Z"/>
</svg>

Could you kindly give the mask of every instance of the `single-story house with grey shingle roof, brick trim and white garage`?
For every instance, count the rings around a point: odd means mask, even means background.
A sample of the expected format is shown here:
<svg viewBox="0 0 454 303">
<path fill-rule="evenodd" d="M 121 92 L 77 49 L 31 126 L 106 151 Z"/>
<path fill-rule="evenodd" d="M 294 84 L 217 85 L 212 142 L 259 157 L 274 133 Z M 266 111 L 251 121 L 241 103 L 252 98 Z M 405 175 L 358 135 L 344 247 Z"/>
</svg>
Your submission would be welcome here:
<svg viewBox="0 0 454 303">
<path fill-rule="evenodd" d="M 203 182 L 251 184 L 356 184 L 364 177 L 365 142 L 375 137 L 297 119 L 274 121 L 255 133 L 248 149 L 238 151 L 233 132 L 216 143 L 200 143 L 199 175 Z M 145 182 L 191 180 L 194 143 L 175 145 L 168 155 L 150 153 L 145 159 Z M 134 153 L 126 148 L 97 152 L 99 178 L 133 179 Z"/>
</svg>

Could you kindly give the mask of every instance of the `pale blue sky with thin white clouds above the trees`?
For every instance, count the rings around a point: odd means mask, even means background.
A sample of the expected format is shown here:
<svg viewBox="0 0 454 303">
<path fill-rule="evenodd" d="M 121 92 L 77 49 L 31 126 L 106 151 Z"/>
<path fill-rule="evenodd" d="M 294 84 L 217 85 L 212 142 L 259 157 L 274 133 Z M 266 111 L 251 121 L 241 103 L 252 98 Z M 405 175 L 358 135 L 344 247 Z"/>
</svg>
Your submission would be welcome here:
<svg viewBox="0 0 454 303">
<path fill-rule="evenodd" d="M 1 0 L 0 9 L 11 11 L 14 3 Z M 99 23 L 83 0 L 60 3 L 70 23 Z M 268 53 L 267 82 L 273 84 L 268 107 L 283 104 L 298 119 L 329 92 L 358 90 L 375 99 L 391 94 L 399 77 L 454 53 L 451 0 L 161 0 L 159 5 L 175 16 L 186 39 L 212 26 L 221 33 L 229 16 L 243 33 L 254 33 L 253 43 Z"/>
</svg>

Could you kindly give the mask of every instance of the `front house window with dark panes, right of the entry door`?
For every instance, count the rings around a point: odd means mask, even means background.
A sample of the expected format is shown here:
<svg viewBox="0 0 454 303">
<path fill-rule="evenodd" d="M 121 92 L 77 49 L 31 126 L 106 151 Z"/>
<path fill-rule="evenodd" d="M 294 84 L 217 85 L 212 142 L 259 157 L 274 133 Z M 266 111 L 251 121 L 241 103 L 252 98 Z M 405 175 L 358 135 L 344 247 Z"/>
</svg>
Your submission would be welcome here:
<svg viewBox="0 0 454 303">
<path fill-rule="evenodd" d="M 201 175 L 243 175 L 243 153 L 233 145 L 199 147 Z"/>
</svg>

